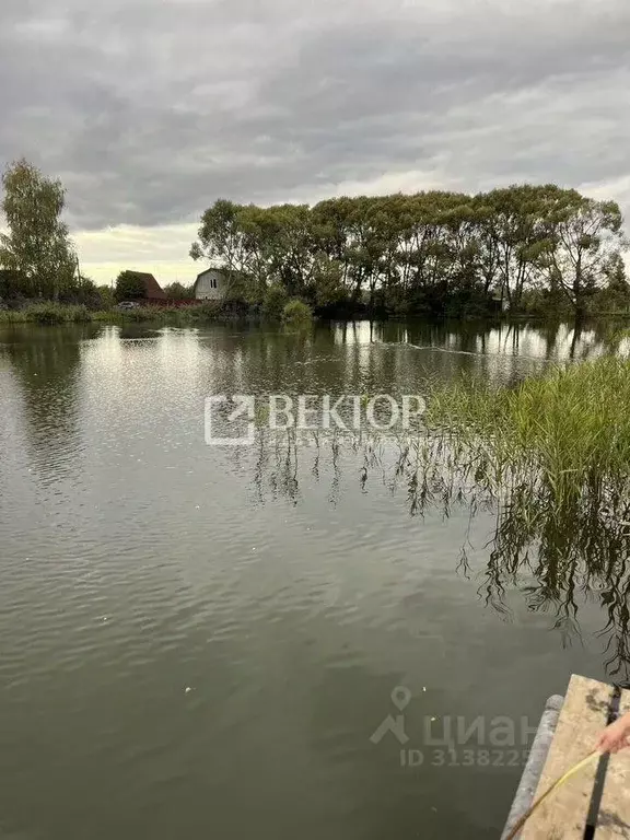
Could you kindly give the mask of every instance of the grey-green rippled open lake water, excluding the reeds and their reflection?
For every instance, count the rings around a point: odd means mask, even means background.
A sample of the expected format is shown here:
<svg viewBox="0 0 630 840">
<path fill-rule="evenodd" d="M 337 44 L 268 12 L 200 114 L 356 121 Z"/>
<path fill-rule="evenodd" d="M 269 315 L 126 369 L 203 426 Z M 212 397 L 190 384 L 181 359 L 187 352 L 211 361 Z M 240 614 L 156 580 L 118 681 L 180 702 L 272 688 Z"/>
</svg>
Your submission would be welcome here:
<svg viewBox="0 0 630 840">
<path fill-rule="evenodd" d="M 0 331 L 0 835 L 498 837 L 546 698 L 615 665 L 608 614 L 533 602 L 535 563 L 489 595 L 494 512 L 418 510 L 386 452 L 207 446 L 205 398 L 606 349 L 564 326 Z"/>
</svg>

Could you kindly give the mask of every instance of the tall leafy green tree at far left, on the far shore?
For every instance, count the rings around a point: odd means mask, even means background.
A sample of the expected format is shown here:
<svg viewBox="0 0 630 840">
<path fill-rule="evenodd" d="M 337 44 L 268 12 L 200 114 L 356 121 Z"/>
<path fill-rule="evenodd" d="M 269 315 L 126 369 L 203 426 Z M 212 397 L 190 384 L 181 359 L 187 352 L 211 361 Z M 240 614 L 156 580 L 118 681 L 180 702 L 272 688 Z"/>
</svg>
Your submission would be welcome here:
<svg viewBox="0 0 630 840">
<path fill-rule="evenodd" d="M 20 160 L 4 171 L 2 186 L 9 233 L 0 233 L 0 264 L 19 273 L 24 295 L 58 300 L 79 284 L 74 249 L 61 221 L 61 182 Z"/>
</svg>

